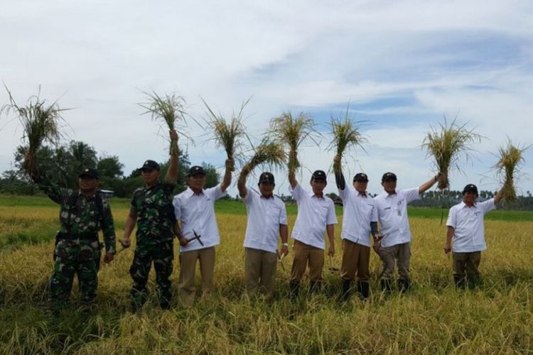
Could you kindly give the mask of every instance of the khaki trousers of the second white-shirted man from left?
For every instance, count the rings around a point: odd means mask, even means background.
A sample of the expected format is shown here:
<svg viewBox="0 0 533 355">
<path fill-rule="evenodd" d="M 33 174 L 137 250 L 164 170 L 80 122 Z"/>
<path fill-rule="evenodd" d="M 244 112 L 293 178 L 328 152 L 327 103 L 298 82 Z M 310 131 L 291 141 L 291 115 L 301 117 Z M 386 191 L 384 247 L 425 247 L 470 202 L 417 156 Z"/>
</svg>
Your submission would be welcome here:
<svg viewBox="0 0 533 355">
<path fill-rule="evenodd" d="M 258 291 L 268 297 L 274 295 L 277 263 L 276 253 L 252 248 L 244 249 L 244 273 L 248 295 L 257 295 Z"/>
</svg>

